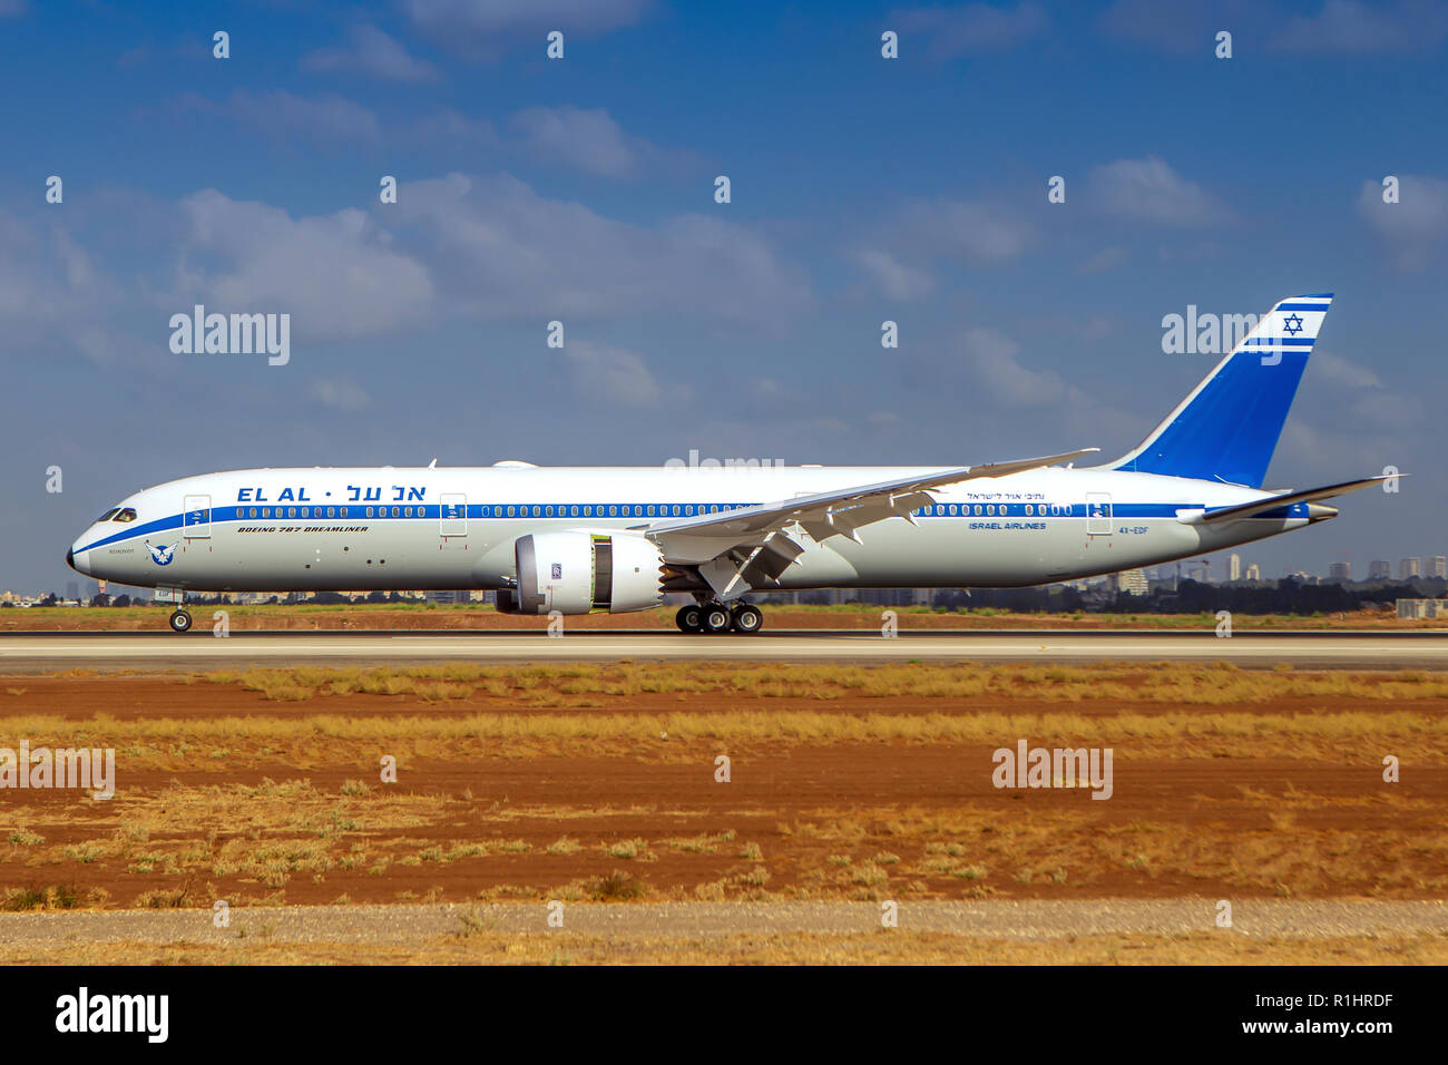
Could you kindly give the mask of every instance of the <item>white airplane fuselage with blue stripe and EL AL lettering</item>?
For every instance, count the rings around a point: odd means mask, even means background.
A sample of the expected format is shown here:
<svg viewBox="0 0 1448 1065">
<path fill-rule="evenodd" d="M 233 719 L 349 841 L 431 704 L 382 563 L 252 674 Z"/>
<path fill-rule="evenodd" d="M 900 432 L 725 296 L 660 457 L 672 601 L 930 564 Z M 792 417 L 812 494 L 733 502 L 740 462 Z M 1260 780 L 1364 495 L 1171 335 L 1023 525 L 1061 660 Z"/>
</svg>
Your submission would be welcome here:
<svg viewBox="0 0 1448 1065">
<path fill-rule="evenodd" d="M 788 500 L 934 468 L 582 467 L 245 469 L 169 481 L 97 522 L 72 565 L 97 578 L 182 591 L 502 588 L 529 533 L 618 535 L 663 517 Z M 786 590 L 1022 587 L 1218 551 L 1331 516 L 1296 504 L 1195 525 L 1193 511 L 1270 497 L 1255 488 L 1096 468 L 1045 468 L 933 490 L 915 522 L 859 542 L 801 536 Z"/>
</svg>

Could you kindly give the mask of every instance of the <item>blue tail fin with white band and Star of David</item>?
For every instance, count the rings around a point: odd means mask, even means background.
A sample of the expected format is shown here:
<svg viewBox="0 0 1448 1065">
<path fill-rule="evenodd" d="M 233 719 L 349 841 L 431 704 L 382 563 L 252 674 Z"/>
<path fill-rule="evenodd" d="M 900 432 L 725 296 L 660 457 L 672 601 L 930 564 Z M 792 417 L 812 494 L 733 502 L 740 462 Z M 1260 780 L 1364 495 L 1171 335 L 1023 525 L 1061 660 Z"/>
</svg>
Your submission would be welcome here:
<svg viewBox="0 0 1448 1065">
<path fill-rule="evenodd" d="M 1332 293 L 1279 303 L 1166 422 L 1106 468 L 1260 488 L 1331 304 Z"/>
</svg>

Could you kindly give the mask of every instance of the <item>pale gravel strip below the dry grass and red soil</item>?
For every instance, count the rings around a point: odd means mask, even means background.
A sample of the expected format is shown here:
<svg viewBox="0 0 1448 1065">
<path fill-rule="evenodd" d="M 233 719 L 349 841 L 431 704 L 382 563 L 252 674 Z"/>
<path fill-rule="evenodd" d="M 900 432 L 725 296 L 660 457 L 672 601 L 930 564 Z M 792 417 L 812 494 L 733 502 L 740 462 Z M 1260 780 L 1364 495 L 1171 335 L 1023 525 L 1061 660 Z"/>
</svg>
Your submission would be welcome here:
<svg viewBox="0 0 1448 1065">
<path fill-rule="evenodd" d="M 562 930 L 630 939 L 875 932 L 877 903 L 573 903 Z M 901 929 L 983 939 L 1050 940 L 1096 935 L 1221 932 L 1254 939 L 1326 939 L 1448 933 L 1442 901 L 1237 901 L 1231 929 L 1216 926 L 1208 898 L 902 903 Z M 423 943 L 465 927 L 552 932 L 546 903 L 479 906 L 316 906 L 236 909 L 227 927 L 206 910 L 117 910 L 0 914 L 0 943 L 45 948 L 87 943 L 229 943 L 246 936 L 285 943 Z"/>
</svg>

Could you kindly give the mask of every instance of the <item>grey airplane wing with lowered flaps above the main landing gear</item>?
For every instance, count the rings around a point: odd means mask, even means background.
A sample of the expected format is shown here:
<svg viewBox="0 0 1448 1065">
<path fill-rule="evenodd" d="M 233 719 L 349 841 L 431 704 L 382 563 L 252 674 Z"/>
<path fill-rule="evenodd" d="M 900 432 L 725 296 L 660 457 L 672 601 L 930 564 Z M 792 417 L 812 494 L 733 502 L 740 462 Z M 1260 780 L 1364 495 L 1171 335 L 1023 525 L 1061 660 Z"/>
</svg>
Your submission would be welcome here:
<svg viewBox="0 0 1448 1065">
<path fill-rule="evenodd" d="M 934 503 L 931 488 L 1072 462 L 1096 451 L 1099 449 L 1083 448 L 1015 462 L 957 467 L 922 477 L 809 493 L 717 514 L 666 519 L 643 526 L 641 530 L 659 543 L 669 562 L 699 565 L 701 575 L 714 591 L 727 598 L 752 587 L 773 584 L 804 554 L 804 546 L 786 532 L 791 526 L 799 526 L 821 543 L 831 536 L 859 542 L 856 530 L 866 525 L 891 517 L 914 523 L 914 511 Z"/>
</svg>

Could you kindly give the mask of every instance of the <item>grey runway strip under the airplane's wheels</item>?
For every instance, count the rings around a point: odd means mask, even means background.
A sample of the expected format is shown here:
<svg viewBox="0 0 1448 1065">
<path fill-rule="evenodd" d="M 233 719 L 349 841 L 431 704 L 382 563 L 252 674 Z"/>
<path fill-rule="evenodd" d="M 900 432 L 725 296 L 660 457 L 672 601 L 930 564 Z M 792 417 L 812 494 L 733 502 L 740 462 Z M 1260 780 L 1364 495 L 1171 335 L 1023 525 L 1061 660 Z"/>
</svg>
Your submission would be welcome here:
<svg viewBox="0 0 1448 1065">
<path fill-rule="evenodd" d="M 1448 632 L 794 630 L 699 636 L 659 630 L 233 632 L 0 635 L 0 669 L 209 669 L 240 665 L 376 665 L 439 661 L 584 662 L 649 659 L 782 662 L 1226 661 L 1244 668 L 1448 669 Z"/>
</svg>

